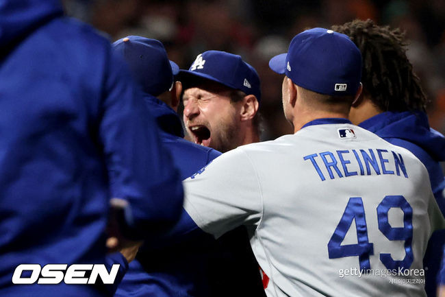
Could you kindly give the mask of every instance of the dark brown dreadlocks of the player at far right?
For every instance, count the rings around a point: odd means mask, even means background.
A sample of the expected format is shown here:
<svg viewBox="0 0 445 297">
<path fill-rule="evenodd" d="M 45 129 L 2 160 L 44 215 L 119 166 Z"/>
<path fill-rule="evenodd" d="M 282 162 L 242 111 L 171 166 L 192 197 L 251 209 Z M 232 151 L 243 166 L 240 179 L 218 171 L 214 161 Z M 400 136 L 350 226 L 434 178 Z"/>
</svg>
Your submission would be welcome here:
<svg viewBox="0 0 445 297">
<path fill-rule="evenodd" d="M 331 27 L 346 34 L 361 51 L 364 95 L 383 111 L 422 110 L 427 96 L 406 55 L 407 42 L 400 29 L 378 26 L 370 19 Z"/>
</svg>

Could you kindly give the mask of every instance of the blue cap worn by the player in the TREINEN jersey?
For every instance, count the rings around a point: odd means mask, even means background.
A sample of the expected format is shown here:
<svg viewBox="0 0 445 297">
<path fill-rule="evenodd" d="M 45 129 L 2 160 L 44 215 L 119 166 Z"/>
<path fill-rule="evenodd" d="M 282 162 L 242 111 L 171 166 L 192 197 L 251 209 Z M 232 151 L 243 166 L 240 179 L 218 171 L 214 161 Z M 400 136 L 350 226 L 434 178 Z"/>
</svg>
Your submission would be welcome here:
<svg viewBox="0 0 445 297">
<path fill-rule="evenodd" d="M 360 86 L 360 50 L 348 36 L 329 29 L 314 28 L 296 35 L 288 53 L 270 59 L 269 67 L 316 93 L 355 95 Z"/>
</svg>

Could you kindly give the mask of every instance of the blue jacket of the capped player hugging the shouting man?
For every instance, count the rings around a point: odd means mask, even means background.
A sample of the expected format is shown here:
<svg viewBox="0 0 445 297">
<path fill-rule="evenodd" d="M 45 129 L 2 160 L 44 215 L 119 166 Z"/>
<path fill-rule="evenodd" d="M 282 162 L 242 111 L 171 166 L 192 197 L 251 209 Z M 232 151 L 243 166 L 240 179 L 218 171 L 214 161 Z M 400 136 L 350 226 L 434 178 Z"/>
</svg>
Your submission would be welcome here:
<svg viewBox="0 0 445 297">
<path fill-rule="evenodd" d="M 192 176 L 220 155 L 209 147 L 184 140 L 176 112 L 158 99 L 145 99 L 162 128 L 162 143 L 173 156 L 181 178 Z M 215 239 L 201 231 L 185 212 L 179 225 L 191 226 L 196 234 L 181 242 L 179 239 L 170 244 L 163 241 L 162 246 L 168 245 L 168 248 L 142 247 L 136 259 L 129 263 L 115 296 L 207 296 L 207 247 L 214 244 Z"/>
</svg>

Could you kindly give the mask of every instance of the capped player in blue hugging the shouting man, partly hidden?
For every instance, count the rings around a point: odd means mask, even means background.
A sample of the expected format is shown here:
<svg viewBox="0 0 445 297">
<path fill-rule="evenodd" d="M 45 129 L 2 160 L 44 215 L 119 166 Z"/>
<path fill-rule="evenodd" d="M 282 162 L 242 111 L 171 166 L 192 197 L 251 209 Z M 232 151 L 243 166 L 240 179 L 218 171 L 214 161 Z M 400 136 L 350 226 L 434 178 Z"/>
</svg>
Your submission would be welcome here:
<svg viewBox="0 0 445 297">
<path fill-rule="evenodd" d="M 144 101 L 162 130 L 162 143 L 173 157 L 181 178 L 192 176 L 220 156 L 220 152 L 210 147 L 183 139 L 177 115 L 182 88 L 181 82 L 173 79 L 179 67 L 168 60 L 164 45 L 159 40 L 127 36 L 113 43 L 113 49 L 125 58 L 133 78 L 142 86 Z M 213 243 L 209 235 L 199 234 L 198 239 L 169 248 L 143 246 L 137 259 L 129 263 L 116 296 L 209 296 L 205 241 Z"/>
</svg>

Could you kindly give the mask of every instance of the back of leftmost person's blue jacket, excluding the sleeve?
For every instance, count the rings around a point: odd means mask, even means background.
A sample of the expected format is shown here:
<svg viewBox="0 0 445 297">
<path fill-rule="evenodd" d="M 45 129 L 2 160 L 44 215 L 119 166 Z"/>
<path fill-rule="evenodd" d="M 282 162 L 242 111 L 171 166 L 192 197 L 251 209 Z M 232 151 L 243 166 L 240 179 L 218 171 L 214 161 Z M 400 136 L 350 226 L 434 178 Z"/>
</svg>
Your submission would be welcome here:
<svg viewBox="0 0 445 297">
<path fill-rule="evenodd" d="M 58 1 L 7 2 L 0 32 L 16 36 L 6 43 L 0 33 L 9 49 L 0 61 L 0 289 L 23 296 L 29 287 L 11 283 L 21 263 L 104 263 L 110 193 L 98 126 L 111 49 L 61 17 Z M 101 294 L 90 285 L 31 291 Z"/>
</svg>

